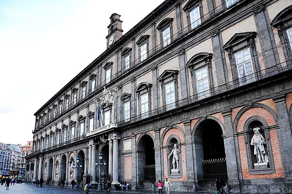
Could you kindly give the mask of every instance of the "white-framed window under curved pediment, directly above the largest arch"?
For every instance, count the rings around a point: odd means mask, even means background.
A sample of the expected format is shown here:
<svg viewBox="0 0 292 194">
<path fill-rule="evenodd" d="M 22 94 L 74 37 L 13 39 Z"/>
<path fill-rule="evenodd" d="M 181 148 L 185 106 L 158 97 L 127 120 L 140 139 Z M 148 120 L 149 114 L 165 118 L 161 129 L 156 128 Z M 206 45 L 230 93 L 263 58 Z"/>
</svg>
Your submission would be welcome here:
<svg viewBox="0 0 292 194">
<path fill-rule="evenodd" d="M 207 67 L 196 71 L 198 98 L 209 96 L 209 79 Z"/>
</svg>

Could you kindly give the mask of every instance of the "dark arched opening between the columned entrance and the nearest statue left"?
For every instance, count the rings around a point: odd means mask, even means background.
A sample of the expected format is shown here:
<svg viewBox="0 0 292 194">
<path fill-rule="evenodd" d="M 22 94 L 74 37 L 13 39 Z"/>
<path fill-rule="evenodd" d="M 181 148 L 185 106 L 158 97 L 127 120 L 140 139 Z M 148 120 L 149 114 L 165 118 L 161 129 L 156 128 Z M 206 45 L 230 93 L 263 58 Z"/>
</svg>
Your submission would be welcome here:
<svg viewBox="0 0 292 194">
<path fill-rule="evenodd" d="M 141 185 L 155 182 L 155 150 L 154 141 L 144 135 L 137 145 L 138 183 Z"/>
</svg>

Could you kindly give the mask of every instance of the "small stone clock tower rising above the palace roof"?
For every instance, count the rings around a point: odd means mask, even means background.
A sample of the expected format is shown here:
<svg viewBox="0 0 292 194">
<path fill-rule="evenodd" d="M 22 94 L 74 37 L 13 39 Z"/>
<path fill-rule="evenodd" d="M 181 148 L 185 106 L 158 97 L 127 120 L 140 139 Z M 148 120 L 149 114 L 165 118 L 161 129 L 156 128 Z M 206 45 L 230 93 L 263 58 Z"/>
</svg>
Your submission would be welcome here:
<svg viewBox="0 0 292 194">
<path fill-rule="evenodd" d="M 111 14 L 110 16 L 110 25 L 108 26 L 109 35 L 107 38 L 107 48 L 109 48 L 115 41 L 117 41 L 120 37 L 122 37 L 122 20 L 120 20 L 120 15 Z"/>
</svg>

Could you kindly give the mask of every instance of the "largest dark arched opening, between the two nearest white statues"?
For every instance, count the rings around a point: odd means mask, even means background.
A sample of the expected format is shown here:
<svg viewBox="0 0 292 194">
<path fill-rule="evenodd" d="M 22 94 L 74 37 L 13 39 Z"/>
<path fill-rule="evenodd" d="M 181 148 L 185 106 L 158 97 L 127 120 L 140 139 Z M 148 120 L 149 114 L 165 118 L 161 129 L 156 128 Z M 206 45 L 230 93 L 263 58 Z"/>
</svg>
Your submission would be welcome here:
<svg viewBox="0 0 292 194">
<path fill-rule="evenodd" d="M 224 140 L 219 123 L 206 119 L 195 130 L 198 180 L 227 179 Z"/>
</svg>

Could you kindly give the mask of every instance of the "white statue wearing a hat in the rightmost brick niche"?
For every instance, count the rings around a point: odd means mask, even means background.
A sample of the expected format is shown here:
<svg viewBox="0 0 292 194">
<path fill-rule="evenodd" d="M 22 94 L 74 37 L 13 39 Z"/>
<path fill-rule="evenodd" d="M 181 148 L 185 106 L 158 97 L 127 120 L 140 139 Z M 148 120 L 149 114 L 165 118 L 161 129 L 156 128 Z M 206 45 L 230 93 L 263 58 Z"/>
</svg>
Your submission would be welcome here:
<svg viewBox="0 0 292 194">
<path fill-rule="evenodd" d="M 259 127 L 253 129 L 255 134 L 251 140 L 251 145 L 255 146 L 254 154 L 256 155 L 257 163 L 269 162 L 265 147 L 263 145 L 266 143 L 266 140 L 264 136 L 258 131 L 259 129 Z"/>
</svg>

